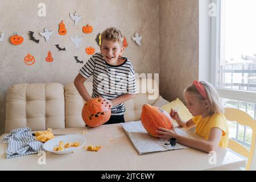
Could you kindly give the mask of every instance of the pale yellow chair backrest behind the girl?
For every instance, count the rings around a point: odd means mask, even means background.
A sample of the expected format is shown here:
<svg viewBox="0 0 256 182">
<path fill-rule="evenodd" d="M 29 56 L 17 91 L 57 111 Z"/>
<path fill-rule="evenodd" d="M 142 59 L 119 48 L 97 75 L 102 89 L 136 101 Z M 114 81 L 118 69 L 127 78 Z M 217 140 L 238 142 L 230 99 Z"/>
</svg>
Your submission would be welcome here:
<svg viewBox="0 0 256 182">
<path fill-rule="evenodd" d="M 236 108 L 225 108 L 225 117 L 228 121 L 236 121 L 240 125 L 249 126 L 253 135 L 251 137 L 250 151 L 243 147 L 240 143 L 233 139 L 229 139 L 228 147 L 240 155 L 245 156 L 247 160 L 246 170 L 255 170 L 256 168 L 256 151 L 255 151 L 255 137 L 256 137 L 256 121 L 244 111 Z"/>
</svg>

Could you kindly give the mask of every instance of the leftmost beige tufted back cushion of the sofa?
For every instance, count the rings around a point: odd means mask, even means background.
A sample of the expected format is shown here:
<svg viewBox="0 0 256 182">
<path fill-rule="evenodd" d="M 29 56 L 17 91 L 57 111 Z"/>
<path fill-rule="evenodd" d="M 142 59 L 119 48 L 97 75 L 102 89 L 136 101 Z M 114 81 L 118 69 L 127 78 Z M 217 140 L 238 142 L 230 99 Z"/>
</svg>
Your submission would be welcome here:
<svg viewBox="0 0 256 182">
<path fill-rule="evenodd" d="M 32 131 L 65 128 L 64 88 L 59 83 L 16 84 L 6 96 L 6 133 L 17 127 Z"/>
</svg>

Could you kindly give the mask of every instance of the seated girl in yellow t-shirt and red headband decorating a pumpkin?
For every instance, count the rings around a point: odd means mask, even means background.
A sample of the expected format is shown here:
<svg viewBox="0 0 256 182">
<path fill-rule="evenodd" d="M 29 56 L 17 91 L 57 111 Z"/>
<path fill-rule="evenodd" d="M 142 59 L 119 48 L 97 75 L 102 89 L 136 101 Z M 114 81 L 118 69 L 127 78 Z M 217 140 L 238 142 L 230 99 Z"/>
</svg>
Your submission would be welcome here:
<svg viewBox="0 0 256 182">
<path fill-rule="evenodd" d="M 157 137 L 166 140 L 176 138 L 180 144 L 205 152 L 214 151 L 218 146 L 228 147 L 228 126 L 216 89 L 206 81 L 194 81 L 184 90 L 184 98 L 193 118 L 183 121 L 177 111 L 172 109 L 170 115 L 180 127 L 189 129 L 196 126 L 195 133 L 205 140 L 181 137 L 174 127 L 171 130 L 159 127 L 159 130 L 156 130 L 159 133 Z"/>
</svg>

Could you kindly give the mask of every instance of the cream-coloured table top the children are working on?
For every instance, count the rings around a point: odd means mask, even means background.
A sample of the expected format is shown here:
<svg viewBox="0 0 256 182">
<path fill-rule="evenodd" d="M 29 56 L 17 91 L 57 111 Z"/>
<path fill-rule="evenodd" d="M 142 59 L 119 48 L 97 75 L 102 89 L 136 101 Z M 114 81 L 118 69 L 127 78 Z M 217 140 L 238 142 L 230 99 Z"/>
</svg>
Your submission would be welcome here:
<svg viewBox="0 0 256 182">
<path fill-rule="evenodd" d="M 0 170 L 236 170 L 245 167 L 245 160 L 229 150 L 218 148 L 216 164 L 210 164 L 208 153 L 187 148 L 139 155 L 120 124 L 96 128 L 52 130 L 55 134 L 79 134 L 85 146 L 103 146 L 92 152 L 81 148 L 71 154 L 46 152 L 46 164 L 39 164 L 38 154 L 6 159 L 6 144 L 0 144 Z M 85 134 L 82 134 L 86 131 Z M 0 137 L 2 138 L 3 135 Z M 210 160 L 212 161 L 212 160 Z"/>
</svg>

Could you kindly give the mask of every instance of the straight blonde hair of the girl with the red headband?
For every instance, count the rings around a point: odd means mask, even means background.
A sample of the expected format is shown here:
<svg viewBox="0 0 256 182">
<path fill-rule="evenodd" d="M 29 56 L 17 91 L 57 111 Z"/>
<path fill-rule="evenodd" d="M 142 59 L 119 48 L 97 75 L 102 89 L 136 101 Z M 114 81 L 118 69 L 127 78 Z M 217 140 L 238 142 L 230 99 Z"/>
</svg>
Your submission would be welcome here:
<svg viewBox="0 0 256 182">
<path fill-rule="evenodd" d="M 220 98 L 218 97 L 217 90 L 207 81 L 200 81 L 200 83 L 204 86 L 205 92 L 207 93 L 207 100 L 209 101 L 209 107 L 207 108 L 207 114 L 222 114 L 224 113 L 224 107 L 220 102 Z M 195 85 L 189 85 L 184 93 L 192 94 L 197 97 L 200 101 L 204 101 L 205 98 L 201 96 L 199 91 L 196 89 Z"/>
</svg>

